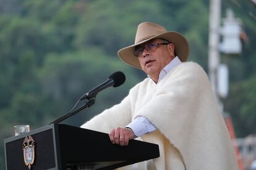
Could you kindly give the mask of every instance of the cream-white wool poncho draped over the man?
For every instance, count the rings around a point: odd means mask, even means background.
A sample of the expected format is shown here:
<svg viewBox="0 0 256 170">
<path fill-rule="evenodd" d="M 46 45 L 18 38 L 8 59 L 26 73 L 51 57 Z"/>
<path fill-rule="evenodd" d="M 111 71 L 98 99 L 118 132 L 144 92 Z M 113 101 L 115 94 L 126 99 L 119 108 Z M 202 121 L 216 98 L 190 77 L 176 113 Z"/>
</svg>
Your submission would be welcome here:
<svg viewBox="0 0 256 170">
<path fill-rule="evenodd" d="M 157 84 L 144 79 L 121 103 L 81 127 L 109 133 L 137 116 L 148 118 L 158 129 L 141 137 L 159 145 L 160 157 L 153 160 L 156 169 L 238 169 L 207 74 L 197 63 L 181 63 Z"/>
</svg>

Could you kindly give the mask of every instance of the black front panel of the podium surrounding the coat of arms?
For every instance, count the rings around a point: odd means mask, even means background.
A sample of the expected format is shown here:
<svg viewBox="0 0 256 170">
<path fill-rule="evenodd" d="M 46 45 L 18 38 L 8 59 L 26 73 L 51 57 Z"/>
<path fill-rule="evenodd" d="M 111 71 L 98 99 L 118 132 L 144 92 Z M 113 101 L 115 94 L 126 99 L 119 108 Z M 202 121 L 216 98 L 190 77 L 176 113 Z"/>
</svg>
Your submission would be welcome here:
<svg viewBox="0 0 256 170">
<path fill-rule="evenodd" d="M 8 170 L 28 170 L 23 159 L 22 144 L 26 137 L 24 135 L 25 134 L 17 136 L 17 138 L 20 139 L 5 142 L 6 169 Z M 30 134 L 30 136 L 35 140 L 35 161 L 32 165 L 32 169 L 45 170 L 55 168 L 53 129 Z"/>
</svg>

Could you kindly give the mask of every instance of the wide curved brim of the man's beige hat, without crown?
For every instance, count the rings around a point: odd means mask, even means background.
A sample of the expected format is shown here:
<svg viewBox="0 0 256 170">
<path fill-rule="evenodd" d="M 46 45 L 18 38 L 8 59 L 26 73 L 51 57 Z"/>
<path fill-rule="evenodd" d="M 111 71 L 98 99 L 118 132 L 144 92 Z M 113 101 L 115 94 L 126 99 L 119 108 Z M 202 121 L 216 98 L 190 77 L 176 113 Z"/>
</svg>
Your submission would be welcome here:
<svg viewBox="0 0 256 170">
<path fill-rule="evenodd" d="M 131 46 L 124 47 L 120 49 L 117 54 L 121 60 L 128 63 L 132 67 L 142 69 L 140 67 L 140 63 L 138 60 L 138 57 L 134 55 L 134 47 L 138 46 L 140 44 L 143 44 L 144 42 L 150 41 L 151 39 L 155 38 L 163 38 L 167 41 L 174 44 L 174 53 L 179 57 L 181 62 L 186 62 L 187 58 L 189 57 L 189 43 L 187 42 L 187 39 L 180 33 L 177 33 L 176 31 L 169 31 L 166 33 L 161 33 L 156 36 L 153 36 L 151 38 L 145 39 L 143 41 L 140 41 L 138 43 L 135 43 Z"/>
</svg>

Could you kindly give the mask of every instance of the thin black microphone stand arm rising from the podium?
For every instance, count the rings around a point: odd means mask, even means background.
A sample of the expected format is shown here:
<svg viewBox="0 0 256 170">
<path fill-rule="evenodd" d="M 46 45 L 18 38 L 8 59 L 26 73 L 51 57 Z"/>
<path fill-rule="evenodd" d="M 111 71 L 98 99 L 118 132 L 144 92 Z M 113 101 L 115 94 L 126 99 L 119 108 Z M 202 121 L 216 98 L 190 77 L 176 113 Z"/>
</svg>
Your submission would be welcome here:
<svg viewBox="0 0 256 170">
<path fill-rule="evenodd" d="M 63 115 L 63 116 L 59 117 L 58 119 L 54 120 L 52 123 L 49 123 L 49 124 L 58 124 L 58 123 L 60 123 L 61 121 L 64 121 L 64 119 L 67 119 L 67 118 L 69 118 L 70 116 L 73 116 L 73 115 L 75 115 L 76 113 L 79 113 L 79 111 L 81 111 L 81 110 L 83 110 L 83 109 L 85 109 L 85 108 L 87 108 L 87 107 L 88 107 L 88 108 L 91 107 L 91 106 L 95 103 L 95 97 L 96 97 L 96 95 L 93 96 L 93 97 L 90 97 L 90 99 L 88 99 L 88 101 L 87 101 L 85 104 L 83 104 L 81 107 L 77 108 L 77 109 L 74 110 L 74 111 L 70 111 L 70 112 L 67 113 L 66 115 Z"/>
</svg>

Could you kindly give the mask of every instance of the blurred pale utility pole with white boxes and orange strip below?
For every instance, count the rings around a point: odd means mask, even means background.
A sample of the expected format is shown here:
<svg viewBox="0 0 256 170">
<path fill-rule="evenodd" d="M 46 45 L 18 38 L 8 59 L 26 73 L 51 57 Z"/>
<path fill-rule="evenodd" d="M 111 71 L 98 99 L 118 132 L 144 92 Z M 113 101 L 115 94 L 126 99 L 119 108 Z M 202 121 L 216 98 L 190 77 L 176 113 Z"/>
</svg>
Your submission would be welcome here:
<svg viewBox="0 0 256 170">
<path fill-rule="evenodd" d="M 256 1 L 256 0 L 252 0 Z M 213 93 L 215 94 L 216 102 L 220 112 L 224 115 L 223 103 L 221 103 L 220 97 L 226 97 L 228 94 L 228 68 L 226 65 L 220 65 L 220 50 L 225 54 L 237 54 L 241 52 L 241 42 L 239 42 L 239 33 L 241 28 L 239 26 L 240 21 L 234 18 L 231 10 L 227 12 L 227 18 L 224 19 L 223 28 L 220 27 L 221 18 L 221 0 L 210 1 L 210 17 L 209 17 L 209 42 L 208 42 L 208 75 L 211 82 Z M 220 34 L 223 36 L 223 42 L 220 43 Z M 223 86 L 224 84 L 224 86 Z M 224 118 L 225 119 L 225 118 Z M 225 119 L 225 121 L 231 120 Z M 232 123 L 232 121 L 231 121 Z M 230 125 L 230 123 L 229 123 Z M 227 127 L 231 127 L 228 126 Z M 231 128 L 229 128 L 230 130 Z M 233 129 L 233 125 L 232 125 Z M 234 130 L 229 131 L 229 134 Z M 231 138 L 235 141 L 235 136 L 230 134 Z M 237 162 L 239 169 L 243 170 L 242 160 L 239 156 L 239 150 L 235 143 Z"/>
</svg>

